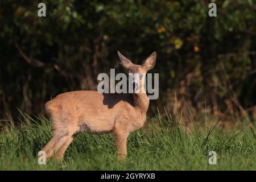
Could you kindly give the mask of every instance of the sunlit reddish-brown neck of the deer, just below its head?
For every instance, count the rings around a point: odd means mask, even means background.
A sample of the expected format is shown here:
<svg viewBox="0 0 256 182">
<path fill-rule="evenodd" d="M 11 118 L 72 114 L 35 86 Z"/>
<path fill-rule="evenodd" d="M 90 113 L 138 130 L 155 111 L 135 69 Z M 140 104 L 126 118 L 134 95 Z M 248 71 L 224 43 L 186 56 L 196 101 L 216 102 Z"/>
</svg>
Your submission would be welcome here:
<svg viewBox="0 0 256 182">
<path fill-rule="evenodd" d="M 149 100 L 148 100 L 147 94 L 146 93 L 134 93 L 133 98 L 134 98 L 135 109 L 141 114 L 146 114 L 148 105 L 149 105 Z"/>
</svg>

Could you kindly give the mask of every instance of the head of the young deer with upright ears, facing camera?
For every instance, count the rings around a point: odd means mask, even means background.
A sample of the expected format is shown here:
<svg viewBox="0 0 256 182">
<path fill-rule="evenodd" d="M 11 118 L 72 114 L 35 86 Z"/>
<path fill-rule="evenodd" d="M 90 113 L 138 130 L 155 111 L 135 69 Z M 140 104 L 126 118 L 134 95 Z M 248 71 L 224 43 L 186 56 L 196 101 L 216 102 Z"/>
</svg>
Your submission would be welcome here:
<svg viewBox="0 0 256 182">
<path fill-rule="evenodd" d="M 134 93 L 146 93 L 144 90 L 144 82 L 147 71 L 152 69 L 156 63 L 156 52 L 151 53 L 141 65 L 133 64 L 129 59 L 123 56 L 119 51 L 118 57 L 121 61 L 121 65 L 126 69 L 126 72 L 129 74 L 129 78 L 131 78 Z"/>
</svg>

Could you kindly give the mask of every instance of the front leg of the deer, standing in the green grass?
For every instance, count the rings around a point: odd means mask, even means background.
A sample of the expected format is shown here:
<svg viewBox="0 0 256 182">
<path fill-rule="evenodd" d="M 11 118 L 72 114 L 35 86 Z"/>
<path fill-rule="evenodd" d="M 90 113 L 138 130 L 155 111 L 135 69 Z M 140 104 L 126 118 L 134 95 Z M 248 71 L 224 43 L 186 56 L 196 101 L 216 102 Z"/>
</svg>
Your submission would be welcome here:
<svg viewBox="0 0 256 182">
<path fill-rule="evenodd" d="M 118 160 L 126 158 L 127 155 L 127 137 L 128 133 L 126 131 L 115 131 L 115 144 L 117 145 L 117 155 Z"/>
</svg>

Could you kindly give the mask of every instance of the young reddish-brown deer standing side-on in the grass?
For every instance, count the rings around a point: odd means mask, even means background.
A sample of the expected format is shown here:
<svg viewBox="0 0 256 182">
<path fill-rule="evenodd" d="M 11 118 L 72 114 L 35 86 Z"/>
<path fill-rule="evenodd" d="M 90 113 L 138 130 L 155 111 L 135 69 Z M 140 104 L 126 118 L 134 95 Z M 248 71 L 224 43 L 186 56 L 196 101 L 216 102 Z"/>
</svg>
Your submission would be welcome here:
<svg viewBox="0 0 256 182">
<path fill-rule="evenodd" d="M 118 57 L 126 73 L 138 74 L 133 93 L 99 93 L 93 90 L 65 92 L 46 102 L 45 110 L 51 118 L 52 138 L 42 149 L 46 161 L 54 156 L 63 159 L 64 152 L 75 136 L 84 131 L 91 134 L 114 133 L 118 161 L 127 155 L 127 137 L 141 129 L 146 121 L 149 99 L 142 90 L 147 71 L 156 63 L 156 52 L 141 65 L 133 64 L 119 51 Z M 135 84 L 134 84 L 135 83 Z"/>
</svg>

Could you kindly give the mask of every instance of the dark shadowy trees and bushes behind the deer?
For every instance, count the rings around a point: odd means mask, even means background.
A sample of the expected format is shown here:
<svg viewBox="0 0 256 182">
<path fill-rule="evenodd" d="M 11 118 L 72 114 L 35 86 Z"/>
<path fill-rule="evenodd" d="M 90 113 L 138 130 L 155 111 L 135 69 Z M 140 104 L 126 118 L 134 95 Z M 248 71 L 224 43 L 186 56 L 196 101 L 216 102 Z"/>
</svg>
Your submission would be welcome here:
<svg viewBox="0 0 256 182">
<path fill-rule="evenodd" d="M 46 3 L 47 16 L 38 16 Z M 96 90 L 98 73 L 158 53 L 159 112 L 196 121 L 256 119 L 256 4 L 217 1 L 0 1 L 0 123 L 44 114 L 62 92 Z M 165 109 L 164 109 L 165 108 Z M 167 112 L 165 111 L 167 110 Z"/>
</svg>

